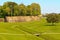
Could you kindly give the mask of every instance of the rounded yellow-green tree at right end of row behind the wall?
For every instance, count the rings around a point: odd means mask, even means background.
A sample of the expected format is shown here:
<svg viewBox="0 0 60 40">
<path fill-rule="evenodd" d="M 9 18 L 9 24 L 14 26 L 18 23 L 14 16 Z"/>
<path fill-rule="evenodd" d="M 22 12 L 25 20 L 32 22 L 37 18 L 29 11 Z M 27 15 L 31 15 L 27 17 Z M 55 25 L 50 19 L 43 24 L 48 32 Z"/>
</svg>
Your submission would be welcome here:
<svg viewBox="0 0 60 40">
<path fill-rule="evenodd" d="M 33 16 L 37 16 L 37 15 L 40 15 L 41 14 L 41 8 L 40 8 L 40 5 L 39 4 L 32 3 L 31 4 L 31 7 L 32 7 L 32 15 Z"/>
</svg>

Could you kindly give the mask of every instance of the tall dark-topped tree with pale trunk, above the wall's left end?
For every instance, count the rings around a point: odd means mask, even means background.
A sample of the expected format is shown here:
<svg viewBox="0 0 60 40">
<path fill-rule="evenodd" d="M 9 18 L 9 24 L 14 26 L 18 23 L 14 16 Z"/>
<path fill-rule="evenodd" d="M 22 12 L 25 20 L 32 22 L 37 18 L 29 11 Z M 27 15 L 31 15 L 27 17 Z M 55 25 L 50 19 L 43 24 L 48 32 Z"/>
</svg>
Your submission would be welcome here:
<svg viewBox="0 0 60 40">
<path fill-rule="evenodd" d="M 17 6 L 17 3 L 15 2 L 5 2 L 3 4 L 3 8 L 7 12 L 8 16 L 14 16 L 15 6 Z"/>
</svg>

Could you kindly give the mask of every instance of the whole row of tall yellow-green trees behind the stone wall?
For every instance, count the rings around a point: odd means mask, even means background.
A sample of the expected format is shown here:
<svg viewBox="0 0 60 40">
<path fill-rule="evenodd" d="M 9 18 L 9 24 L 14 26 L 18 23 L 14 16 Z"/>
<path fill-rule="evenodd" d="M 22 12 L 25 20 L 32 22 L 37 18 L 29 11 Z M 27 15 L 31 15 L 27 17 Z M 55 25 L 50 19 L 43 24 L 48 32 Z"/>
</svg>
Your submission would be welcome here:
<svg viewBox="0 0 60 40">
<path fill-rule="evenodd" d="M 40 5 L 32 3 L 31 5 L 17 4 L 15 2 L 5 2 L 0 6 L 0 18 L 6 16 L 37 16 L 41 14 Z"/>
</svg>

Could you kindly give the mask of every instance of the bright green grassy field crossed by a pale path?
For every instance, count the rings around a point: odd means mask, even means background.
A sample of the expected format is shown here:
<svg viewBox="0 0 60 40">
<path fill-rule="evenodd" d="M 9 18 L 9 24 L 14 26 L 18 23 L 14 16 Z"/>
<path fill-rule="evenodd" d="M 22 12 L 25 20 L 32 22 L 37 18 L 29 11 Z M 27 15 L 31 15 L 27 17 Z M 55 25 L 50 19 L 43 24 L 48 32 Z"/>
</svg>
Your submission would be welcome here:
<svg viewBox="0 0 60 40">
<path fill-rule="evenodd" d="M 60 23 L 51 26 L 44 18 L 32 22 L 0 22 L 0 40 L 60 40 Z"/>
</svg>

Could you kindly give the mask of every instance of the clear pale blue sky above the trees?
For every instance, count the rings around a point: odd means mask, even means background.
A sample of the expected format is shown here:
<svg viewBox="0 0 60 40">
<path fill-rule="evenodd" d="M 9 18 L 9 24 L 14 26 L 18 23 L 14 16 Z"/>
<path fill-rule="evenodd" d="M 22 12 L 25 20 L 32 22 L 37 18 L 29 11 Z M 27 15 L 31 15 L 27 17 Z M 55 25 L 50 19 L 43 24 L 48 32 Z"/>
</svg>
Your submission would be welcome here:
<svg viewBox="0 0 60 40">
<path fill-rule="evenodd" d="M 60 0 L 0 0 L 0 5 L 4 2 L 12 1 L 18 4 L 30 5 L 31 3 L 38 3 L 41 6 L 42 14 L 46 13 L 60 13 Z"/>
</svg>

